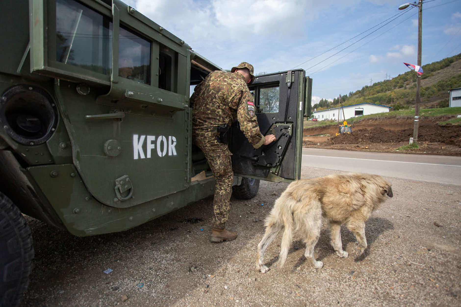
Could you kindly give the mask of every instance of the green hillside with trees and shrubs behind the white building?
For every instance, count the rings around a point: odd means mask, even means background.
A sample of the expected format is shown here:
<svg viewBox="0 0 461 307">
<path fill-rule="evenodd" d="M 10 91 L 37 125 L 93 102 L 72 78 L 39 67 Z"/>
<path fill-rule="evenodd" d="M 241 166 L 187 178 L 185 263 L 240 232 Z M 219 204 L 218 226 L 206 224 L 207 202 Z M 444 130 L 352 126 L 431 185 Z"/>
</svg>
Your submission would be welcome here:
<svg viewBox="0 0 461 307">
<path fill-rule="evenodd" d="M 461 87 L 461 53 L 451 58 L 423 65 L 421 76 L 421 106 L 420 108 L 448 107 L 449 90 Z M 372 104 L 389 105 L 391 110 L 405 110 L 414 106 L 416 98 L 416 74 L 408 70 L 391 80 L 376 82 L 371 86 L 341 95 L 343 105 Z M 313 109 L 324 110 L 337 107 L 339 98 L 332 102 L 321 99 Z"/>
</svg>

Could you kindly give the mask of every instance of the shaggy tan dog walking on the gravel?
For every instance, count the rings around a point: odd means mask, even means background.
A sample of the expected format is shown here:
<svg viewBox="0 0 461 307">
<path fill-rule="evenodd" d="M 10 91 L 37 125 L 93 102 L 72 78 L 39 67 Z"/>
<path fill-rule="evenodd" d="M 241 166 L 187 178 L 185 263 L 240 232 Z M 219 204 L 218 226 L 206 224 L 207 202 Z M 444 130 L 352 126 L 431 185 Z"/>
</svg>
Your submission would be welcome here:
<svg viewBox="0 0 461 307">
<path fill-rule="evenodd" d="M 301 234 L 306 243 L 304 256 L 319 269 L 322 261 L 316 261 L 314 246 L 319 240 L 322 216 L 329 220 L 331 245 L 339 257 L 347 258 L 341 243 L 341 225 L 354 233 L 359 245 L 357 256 L 366 249 L 365 221 L 384 202 L 392 197 L 392 188 L 383 177 L 370 174 L 332 174 L 314 179 L 292 182 L 275 201 L 266 218 L 266 233 L 258 244 L 256 269 L 268 271 L 263 265 L 264 252 L 283 228 L 279 266 L 286 260 L 293 232 Z"/>
</svg>

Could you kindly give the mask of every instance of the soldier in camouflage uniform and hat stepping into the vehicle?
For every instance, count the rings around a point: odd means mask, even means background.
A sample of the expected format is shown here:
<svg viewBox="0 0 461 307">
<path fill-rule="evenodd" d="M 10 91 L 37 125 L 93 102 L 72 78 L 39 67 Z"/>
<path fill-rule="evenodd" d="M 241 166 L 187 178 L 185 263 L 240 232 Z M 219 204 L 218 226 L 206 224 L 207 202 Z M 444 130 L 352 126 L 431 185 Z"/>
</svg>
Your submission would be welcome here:
<svg viewBox="0 0 461 307">
<path fill-rule="evenodd" d="M 216 70 L 195 87 L 190 97 L 193 107 L 192 141 L 205 154 L 216 180 L 213 200 L 213 219 L 210 240 L 231 241 L 236 232 L 225 229 L 231 209 L 233 172 L 231 152 L 219 138 L 222 127 L 236 120 L 254 148 L 275 140 L 273 134 L 263 136 L 255 116 L 253 96 L 248 85 L 254 81 L 254 69 L 246 62 L 232 67 L 231 72 Z M 221 127 L 221 128 L 220 128 Z"/>
</svg>

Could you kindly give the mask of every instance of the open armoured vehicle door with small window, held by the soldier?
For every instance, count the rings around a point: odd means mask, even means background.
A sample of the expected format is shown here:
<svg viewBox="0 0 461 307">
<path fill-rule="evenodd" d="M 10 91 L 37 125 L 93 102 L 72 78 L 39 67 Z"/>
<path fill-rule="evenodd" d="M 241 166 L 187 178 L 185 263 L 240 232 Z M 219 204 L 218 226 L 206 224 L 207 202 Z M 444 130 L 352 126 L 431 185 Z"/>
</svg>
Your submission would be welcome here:
<svg viewBox="0 0 461 307">
<path fill-rule="evenodd" d="M 304 70 L 290 70 L 257 76 L 249 88 L 261 133 L 276 140 L 254 149 L 235 122 L 229 146 L 234 174 L 274 182 L 300 179 L 303 115 L 312 79 Z"/>
</svg>

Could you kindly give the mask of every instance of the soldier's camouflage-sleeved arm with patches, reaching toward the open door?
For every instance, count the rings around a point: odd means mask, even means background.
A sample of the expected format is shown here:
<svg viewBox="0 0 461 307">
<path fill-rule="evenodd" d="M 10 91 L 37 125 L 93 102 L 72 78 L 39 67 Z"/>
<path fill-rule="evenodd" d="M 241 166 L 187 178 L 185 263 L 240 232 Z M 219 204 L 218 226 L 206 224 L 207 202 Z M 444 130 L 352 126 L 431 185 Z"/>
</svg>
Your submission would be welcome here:
<svg viewBox="0 0 461 307">
<path fill-rule="evenodd" d="M 237 120 L 240 123 L 240 129 L 251 145 L 259 148 L 265 143 L 266 138 L 261 134 L 256 120 L 253 97 L 249 91 L 242 91 L 237 93 L 233 100 L 237 105 Z"/>
</svg>

